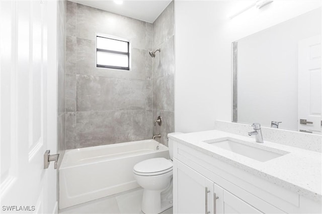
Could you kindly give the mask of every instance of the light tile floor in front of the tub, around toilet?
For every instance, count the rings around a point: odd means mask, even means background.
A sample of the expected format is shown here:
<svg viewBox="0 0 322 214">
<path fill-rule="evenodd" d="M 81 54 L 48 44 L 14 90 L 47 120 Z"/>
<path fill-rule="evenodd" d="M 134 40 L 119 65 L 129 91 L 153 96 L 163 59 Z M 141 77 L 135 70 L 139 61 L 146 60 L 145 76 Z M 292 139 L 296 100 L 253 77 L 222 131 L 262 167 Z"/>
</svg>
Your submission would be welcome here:
<svg viewBox="0 0 322 214">
<path fill-rule="evenodd" d="M 96 214 L 96 213 L 143 213 L 141 211 L 143 189 L 136 188 L 126 192 L 121 192 L 115 195 L 103 197 L 97 200 L 74 205 L 64 209 L 60 209 L 58 213 L 77 213 L 77 214 Z M 162 214 L 173 214 L 173 208 L 169 208 Z"/>
</svg>

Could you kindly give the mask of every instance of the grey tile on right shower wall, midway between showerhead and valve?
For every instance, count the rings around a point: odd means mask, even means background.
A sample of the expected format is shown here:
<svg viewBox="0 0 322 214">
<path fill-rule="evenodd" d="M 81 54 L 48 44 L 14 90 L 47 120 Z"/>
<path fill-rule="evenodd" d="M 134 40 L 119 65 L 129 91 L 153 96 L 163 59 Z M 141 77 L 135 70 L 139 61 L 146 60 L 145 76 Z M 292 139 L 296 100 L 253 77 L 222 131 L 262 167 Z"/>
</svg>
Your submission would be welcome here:
<svg viewBox="0 0 322 214">
<path fill-rule="evenodd" d="M 174 112 L 174 75 L 152 79 L 153 110 Z"/>
</svg>

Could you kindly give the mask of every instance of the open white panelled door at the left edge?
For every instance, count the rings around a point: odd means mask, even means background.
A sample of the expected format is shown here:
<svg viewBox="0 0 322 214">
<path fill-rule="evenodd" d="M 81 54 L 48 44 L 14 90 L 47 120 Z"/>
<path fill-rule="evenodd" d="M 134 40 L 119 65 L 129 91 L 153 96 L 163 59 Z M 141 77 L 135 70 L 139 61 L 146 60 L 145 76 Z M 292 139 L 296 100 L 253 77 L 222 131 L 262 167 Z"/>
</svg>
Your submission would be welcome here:
<svg viewBox="0 0 322 214">
<path fill-rule="evenodd" d="M 56 1 L 0 1 L 2 213 L 57 212 Z"/>
</svg>

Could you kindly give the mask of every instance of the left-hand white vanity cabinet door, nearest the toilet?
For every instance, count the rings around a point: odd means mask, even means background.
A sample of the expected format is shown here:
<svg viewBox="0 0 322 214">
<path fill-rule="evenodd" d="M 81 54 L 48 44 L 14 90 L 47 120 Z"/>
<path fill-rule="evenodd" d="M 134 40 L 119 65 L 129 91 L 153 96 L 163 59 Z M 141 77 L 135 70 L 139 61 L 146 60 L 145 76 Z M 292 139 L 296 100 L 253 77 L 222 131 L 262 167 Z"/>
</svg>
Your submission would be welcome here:
<svg viewBox="0 0 322 214">
<path fill-rule="evenodd" d="M 213 213 L 213 182 L 178 161 L 178 213 Z"/>
</svg>

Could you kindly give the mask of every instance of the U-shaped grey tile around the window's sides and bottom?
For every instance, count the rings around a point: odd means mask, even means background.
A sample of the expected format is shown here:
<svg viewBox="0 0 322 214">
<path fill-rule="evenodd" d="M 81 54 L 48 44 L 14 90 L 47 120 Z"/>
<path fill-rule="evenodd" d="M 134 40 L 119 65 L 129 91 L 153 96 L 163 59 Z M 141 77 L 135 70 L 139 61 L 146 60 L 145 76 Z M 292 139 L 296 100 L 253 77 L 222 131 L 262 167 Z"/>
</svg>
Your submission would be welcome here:
<svg viewBox="0 0 322 214">
<path fill-rule="evenodd" d="M 96 67 L 96 43 L 87 39 L 76 39 L 76 73 L 101 77 L 145 79 L 145 50 L 132 48 L 130 52 L 131 70 L 117 70 Z"/>
</svg>

